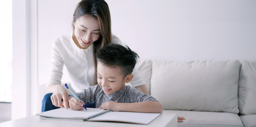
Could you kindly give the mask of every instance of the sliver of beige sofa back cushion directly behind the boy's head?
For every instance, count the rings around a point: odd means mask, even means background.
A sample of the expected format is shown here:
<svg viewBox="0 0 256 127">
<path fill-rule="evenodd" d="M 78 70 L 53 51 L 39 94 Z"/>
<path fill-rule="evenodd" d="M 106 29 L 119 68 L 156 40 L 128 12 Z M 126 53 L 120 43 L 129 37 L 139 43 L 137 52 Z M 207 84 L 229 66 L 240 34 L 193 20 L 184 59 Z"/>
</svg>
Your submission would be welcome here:
<svg viewBox="0 0 256 127">
<path fill-rule="evenodd" d="M 141 75 L 142 79 L 146 82 L 146 87 L 150 92 L 150 78 L 151 78 L 151 69 L 152 61 L 149 59 L 139 59 L 136 68 L 138 73 Z"/>
</svg>

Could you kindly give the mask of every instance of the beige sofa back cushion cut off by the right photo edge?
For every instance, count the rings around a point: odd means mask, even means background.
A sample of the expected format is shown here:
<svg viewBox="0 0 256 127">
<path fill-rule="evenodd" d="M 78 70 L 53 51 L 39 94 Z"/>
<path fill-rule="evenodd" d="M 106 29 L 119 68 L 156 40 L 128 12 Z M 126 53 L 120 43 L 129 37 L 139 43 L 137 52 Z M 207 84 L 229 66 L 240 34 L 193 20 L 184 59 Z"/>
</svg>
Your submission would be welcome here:
<svg viewBox="0 0 256 127">
<path fill-rule="evenodd" d="M 241 63 L 238 97 L 240 114 L 256 114 L 256 62 Z"/>
</svg>

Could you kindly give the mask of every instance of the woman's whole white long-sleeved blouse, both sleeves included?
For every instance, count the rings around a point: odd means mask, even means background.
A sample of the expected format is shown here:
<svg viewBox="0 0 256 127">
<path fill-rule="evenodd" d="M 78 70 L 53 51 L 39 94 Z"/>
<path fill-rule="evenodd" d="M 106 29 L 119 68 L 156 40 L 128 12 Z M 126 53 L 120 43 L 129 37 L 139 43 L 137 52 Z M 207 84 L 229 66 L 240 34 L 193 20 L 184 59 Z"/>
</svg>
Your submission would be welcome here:
<svg viewBox="0 0 256 127">
<path fill-rule="evenodd" d="M 93 43 L 87 49 L 80 49 L 73 41 L 72 34 L 63 35 L 53 42 L 50 77 L 46 88 L 52 83 L 61 84 L 63 65 L 67 67 L 71 87 L 75 92 L 83 92 L 85 88 L 93 86 L 95 74 Z M 112 43 L 124 46 L 114 35 L 112 35 Z M 136 68 L 133 69 L 132 74 L 134 75 L 130 81 L 132 87 L 145 84 Z"/>
</svg>

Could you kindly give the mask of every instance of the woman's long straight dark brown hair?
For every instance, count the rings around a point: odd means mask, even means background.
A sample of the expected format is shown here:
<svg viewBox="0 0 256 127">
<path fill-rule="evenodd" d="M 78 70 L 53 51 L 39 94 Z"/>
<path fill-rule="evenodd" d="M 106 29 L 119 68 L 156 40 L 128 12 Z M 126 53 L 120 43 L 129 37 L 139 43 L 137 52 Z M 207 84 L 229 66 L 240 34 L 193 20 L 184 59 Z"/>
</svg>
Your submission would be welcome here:
<svg viewBox="0 0 256 127">
<path fill-rule="evenodd" d="M 106 44 L 112 43 L 111 34 L 111 20 L 108 4 L 104 0 L 82 0 L 78 3 L 74 12 L 74 22 L 81 16 L 90 14 L 99 21 L 99 29 L 101 30 L 101 36 L 95 42 L 93 42 L 93 56 Z M 74 25 L 72 24 L 74 31 Z M 94 85 L 97 84 L 97 60 L 94 57 L 95 63 L 95 74 L 94 74 Z"/>
</svg>

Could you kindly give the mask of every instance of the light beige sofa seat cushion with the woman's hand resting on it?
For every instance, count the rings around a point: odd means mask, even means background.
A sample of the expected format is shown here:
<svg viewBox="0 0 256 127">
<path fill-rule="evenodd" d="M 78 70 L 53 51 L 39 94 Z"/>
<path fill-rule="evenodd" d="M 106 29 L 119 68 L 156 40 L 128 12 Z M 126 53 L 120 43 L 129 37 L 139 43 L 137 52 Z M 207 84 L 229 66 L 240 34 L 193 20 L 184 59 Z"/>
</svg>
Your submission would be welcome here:
<svg viewBox="0 0 256 127">
<path fill-rule="evenodd" d="M 240 117 L 234 113 L 164 110 L 167 113 L 177 113 L 186 120 L 178 123 L 178 127 L 243 127 Z"/>
</svg>

